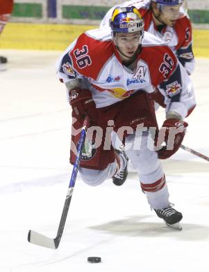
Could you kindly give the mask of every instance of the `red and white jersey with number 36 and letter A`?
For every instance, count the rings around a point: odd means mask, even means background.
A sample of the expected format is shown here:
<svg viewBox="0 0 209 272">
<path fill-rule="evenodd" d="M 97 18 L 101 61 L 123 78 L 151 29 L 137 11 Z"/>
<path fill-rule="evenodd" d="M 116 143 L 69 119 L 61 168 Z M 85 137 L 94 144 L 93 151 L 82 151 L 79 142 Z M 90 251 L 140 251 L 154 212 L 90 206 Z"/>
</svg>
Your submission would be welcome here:
<svg viewBox="0 0 209 272">
<path fill-rule="evenodd" d="M 113 105 L 137 91 L 152 93 L 156 87 L 165 96 L 167 111 L 185 118 L 195 105 L 185 69 L 162 40 L 147 32 L 134 70 L 123 65 L 110 29 L 81 34 L 60 56 L 56 69 L 66 85 L 78 80 L 81 88 L 90 89 L 98 108 Z"/>
</svg>

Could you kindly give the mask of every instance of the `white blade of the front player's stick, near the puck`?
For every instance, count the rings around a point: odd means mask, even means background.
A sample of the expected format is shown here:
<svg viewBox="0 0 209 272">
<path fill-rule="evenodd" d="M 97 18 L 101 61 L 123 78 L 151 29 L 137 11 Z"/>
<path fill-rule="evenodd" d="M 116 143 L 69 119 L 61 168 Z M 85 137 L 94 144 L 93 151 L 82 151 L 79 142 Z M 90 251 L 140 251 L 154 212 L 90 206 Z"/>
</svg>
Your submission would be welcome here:
<svg viewBox="0 0 209 272">
<path fill-rule="evenodd" d="M 34 232 L 31 229 L 28 232 L 28 242 L 34 243 L 35 245 L 43 246 L 44 248 L 57 248 L 54 239 L 44 236 L 38 232 Z"/>
</svg>

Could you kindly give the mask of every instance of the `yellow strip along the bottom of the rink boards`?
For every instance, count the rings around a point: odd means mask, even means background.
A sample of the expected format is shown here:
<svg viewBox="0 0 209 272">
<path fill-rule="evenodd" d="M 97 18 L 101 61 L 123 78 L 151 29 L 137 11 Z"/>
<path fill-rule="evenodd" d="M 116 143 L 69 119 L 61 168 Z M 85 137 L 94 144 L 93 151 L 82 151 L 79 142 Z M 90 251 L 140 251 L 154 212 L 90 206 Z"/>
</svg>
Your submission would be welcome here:
<svg viewBox="0 0 209 272">
<path fill-rule="evenodd" d="M 0 39 L 0 49 L 65 50 L 80 33 L 97 26 L 10 22 Z M 193 29 L 194 54 L 209 57 L 209 29 Z"/>
</svg>

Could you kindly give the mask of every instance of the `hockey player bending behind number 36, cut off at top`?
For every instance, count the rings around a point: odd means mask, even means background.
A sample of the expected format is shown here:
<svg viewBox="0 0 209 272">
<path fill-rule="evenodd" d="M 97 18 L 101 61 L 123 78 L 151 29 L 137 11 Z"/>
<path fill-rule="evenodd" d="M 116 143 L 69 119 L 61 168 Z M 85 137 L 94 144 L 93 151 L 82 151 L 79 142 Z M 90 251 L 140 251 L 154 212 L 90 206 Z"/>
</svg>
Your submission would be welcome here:
<svg viewBox="0 0 209 272">
<path fill-rule="evenodd" d="M 144 19 L 144 30 L 164 40 L 190 75 L 194 70 L 192 25 L 183 9 L 183 2 L 183 0 L 131 0 L 119 6 L 134 5 Z M 114 9 L 115 7 L 110 8 L 101 21 L 102 29 L 109 27 Z"/>
</svg>

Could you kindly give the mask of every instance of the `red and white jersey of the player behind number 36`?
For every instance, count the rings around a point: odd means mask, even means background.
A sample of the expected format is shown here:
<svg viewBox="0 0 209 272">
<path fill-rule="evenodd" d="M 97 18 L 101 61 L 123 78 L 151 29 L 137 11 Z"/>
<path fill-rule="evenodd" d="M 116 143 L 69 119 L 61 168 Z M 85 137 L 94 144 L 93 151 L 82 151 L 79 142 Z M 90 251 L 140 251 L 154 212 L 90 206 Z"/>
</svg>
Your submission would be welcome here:
<svg viewBox="0 0 209 272">
<path fill-rule="evenodd" d="M 192 25 L 187 13 L 181 8 L 181 17 L 176 20 L 174 27 L 156 27 L 150 3 L 151 0 L 131 0 L 117 6 L 135 6 L 144 19 L 144 30 L 167 43 L 190 75 L 194 70 L 194 55 L 192 52 Z M 109 20 L 115 7 L 108 10 L 101 21 L 101 28 L 109 27 Z"/>
</svg>

